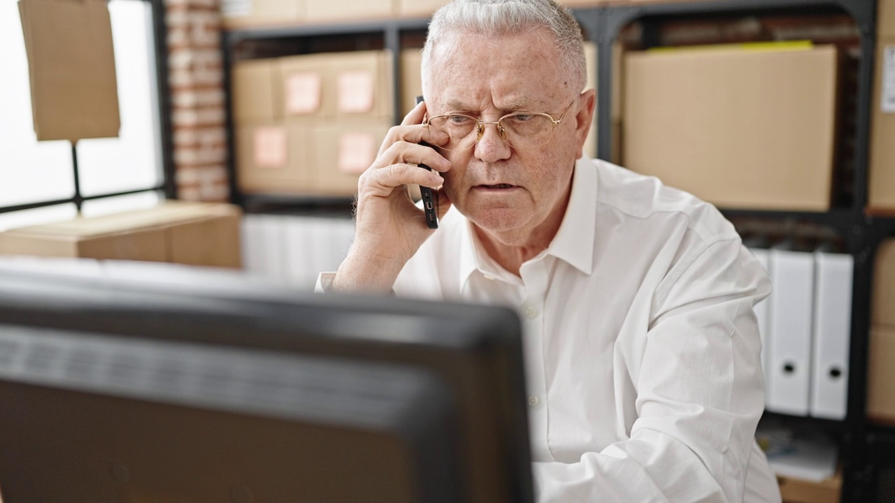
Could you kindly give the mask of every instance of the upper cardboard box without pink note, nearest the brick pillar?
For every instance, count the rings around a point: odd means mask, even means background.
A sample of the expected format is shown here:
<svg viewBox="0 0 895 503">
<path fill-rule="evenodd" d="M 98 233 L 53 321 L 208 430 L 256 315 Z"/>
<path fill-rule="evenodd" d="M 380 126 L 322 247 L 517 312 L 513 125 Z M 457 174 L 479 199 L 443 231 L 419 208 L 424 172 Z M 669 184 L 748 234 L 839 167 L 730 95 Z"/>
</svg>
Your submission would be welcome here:
<svg viewBox="0 0 895 503">
<path fill-rule="evenodd" d="M 279 62 L 277 59 L 251 59 L 233 64 L 231 89 L 235 124 L 272 121 L 280 116 L 276 107 Z"/>
</svg>

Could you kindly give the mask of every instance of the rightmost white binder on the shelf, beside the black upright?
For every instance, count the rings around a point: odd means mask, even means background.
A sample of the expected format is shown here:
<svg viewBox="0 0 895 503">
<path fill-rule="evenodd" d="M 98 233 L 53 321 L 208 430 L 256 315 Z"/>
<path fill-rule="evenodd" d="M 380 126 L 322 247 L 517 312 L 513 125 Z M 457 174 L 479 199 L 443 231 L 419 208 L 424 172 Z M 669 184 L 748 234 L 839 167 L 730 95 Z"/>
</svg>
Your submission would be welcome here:
<svg viewBox="0 0 895 503">
<path fill-rule="evenodd" d="M 854 259 L 814 253 L 814 358 L 811 415 L 844 419 L 848 402 L 848 347 Z"/>
</svg>

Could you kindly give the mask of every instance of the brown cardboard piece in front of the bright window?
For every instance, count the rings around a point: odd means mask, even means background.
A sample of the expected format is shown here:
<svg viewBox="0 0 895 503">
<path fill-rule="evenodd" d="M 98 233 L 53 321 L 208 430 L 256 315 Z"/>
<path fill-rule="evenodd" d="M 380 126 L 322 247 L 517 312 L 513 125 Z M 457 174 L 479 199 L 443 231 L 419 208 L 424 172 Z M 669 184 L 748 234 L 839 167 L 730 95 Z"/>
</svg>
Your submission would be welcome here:
<svg viewBox="0 0 895 503">
<path fill-rule="evenodd" d="M 38 140 L 118 136 L 118 88 L 106 0 L 20 0 Z"/>
</svg>

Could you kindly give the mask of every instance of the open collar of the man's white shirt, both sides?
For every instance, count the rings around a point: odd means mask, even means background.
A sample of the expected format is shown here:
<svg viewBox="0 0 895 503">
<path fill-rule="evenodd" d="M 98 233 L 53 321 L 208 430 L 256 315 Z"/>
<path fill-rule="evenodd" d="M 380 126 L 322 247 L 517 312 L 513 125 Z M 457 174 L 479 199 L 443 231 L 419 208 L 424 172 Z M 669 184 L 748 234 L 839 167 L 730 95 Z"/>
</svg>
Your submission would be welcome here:
<svg viewBox="0 0 895 503">
<path fill-rule="evenodd" d="M 597 220 L 597 170 L 593 160 L 583 156 L 575 162 L 572 175 L 572 193 L 569 196 L 566 215 L 559 225 L 557 235 L 547 248 L 547 254 L 568 262 L 575 269 L 590 275 L 593 269 L 593 235 Z M 460 285 L 476 270 L 482 274 L 499 276 L 493 268 L 493 260 L 485 255 L 473 230 L 473 224 L 465 219 L 465 229 L 460 233 Z"/>
</svg>

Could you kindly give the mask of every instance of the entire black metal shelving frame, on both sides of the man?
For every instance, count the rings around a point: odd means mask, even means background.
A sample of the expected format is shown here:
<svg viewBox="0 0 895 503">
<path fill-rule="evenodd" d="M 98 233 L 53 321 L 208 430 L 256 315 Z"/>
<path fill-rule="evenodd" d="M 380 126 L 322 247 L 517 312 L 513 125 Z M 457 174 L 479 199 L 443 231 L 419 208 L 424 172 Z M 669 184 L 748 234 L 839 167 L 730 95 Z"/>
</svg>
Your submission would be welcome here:
<svg viewBox="0 0 895 503">
<path fill-rule="evenodd" d="M 865 416 L 867 347 L 870 330 L 870 297 L 874 275 L 874 259 L 882 240 L 895 235 L 895 217 L 874 217 L 867 214 L 867 175 L 870 133 L 870 113 L 874 80 L 876 0 L 714 0 L 685 1 L 666 4 L 601 5 L 574 9 L 585 34 L 590 34 L 598 47 L 597 64 L 597 152 L 599 158 L 612 158 L 612 46 L 621 30 L 631 22 L 644 21 L 644 46 L 657 44 L 656 22 L 672 19 L 705 17 L 735 17 L 761 14 L 797 14 L 839 12 L 848 14 L 860 33 L 860 61 L 857 69 L 857 108 L 854 155 L 854 194 L 850 205 L 837 206 L 826 212 L 763 211 L 754 209 L 722 209 L 729 218 L 752 217 L 767 220 L 796 220 L 828 226 L 835 230 L 845 243 L 847 251 L 855 257 L 855 273 L 852 301 L 851 346 L 849 356 L 848 415 L 842 422 L 817 420 L 827 431 L 841 434 L 841 464 L 843 473 L 842 501 L 848 503 L 874 501 L 873 484 L 877 480 L 870 448 L 874 439 L 880 438 L 878 428 L 868 425 Z M 230 68 L 234 48 L 248 41 L 276 41 L 296 38 L 326 37 L 331 35 L 376 34 L 382 37 L 382 47 L 390 49 L 394 56 L 395 123 L 402 116 L 400 97 L 400 48 L 406 32 L 426 29 L 428 19 L 387 20 L 363 23 L 296 26 L 259 30 L 233 30 L 225 34 L 224 67 L 227 90 L 227 127 L 233 131 L 230 98 Z M 301 54 L 301 52 L 296 53 Z M 233 136 L 229 149 L 234 151 Z M 317 196 L 245 195 L 238 189 L 235 179 L 234 157 L 230 156 L 231 193 L 236 203 L 247 211 L 282 212 L 307 211 L 314 208 L 344 208 L 352 201 L 347 198 L 320 198 Z M 780 414 L 774 414 L 780 416 Z M 786 416 L 783 416 L 784 418 Z M 794 422 L 811 421 L 811 418 L 795 418 Z M 873 432 L 871 432 L 873 431 Z M 891 437 L 895 439 L 895 434 Z M 893 440 L 895 442 L 895 440 Z"/>
</svg>

